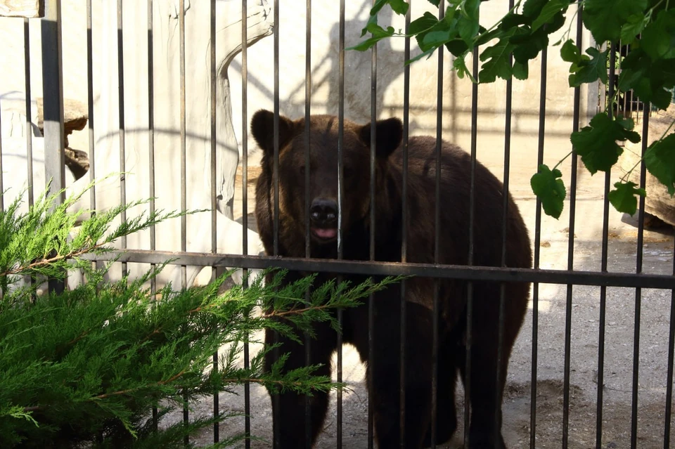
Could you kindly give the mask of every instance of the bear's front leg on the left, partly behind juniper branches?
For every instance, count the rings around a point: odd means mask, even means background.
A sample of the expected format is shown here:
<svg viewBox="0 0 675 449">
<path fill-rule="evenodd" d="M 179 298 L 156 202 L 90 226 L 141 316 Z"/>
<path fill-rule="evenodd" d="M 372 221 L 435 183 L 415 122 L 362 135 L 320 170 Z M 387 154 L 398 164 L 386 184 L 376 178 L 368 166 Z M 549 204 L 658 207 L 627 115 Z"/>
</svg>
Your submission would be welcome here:
<svg viewBox="0 0 675 449">
<path fill-rule="evenodd" d="M 319 323 L 314 326 L 316 339 L 309 341 L 309 364 L 321 364 L 314 372 L 317 376 L 330 377 L 330 355 L 335 351 L 337 337 L 330 325 Z M 302 334 L 301 334 L 302 335 Z M 305 346 L 284 337 L 277 337 L 276 332 L 266 330 L 265 344 L 281 343 L 277 350 L 269 351 L 265 356 L 265 371 L 269 372 L 278 356 L 289 354 L 288 360 L 283 365 L 283 372 L 295 368 L 304 367 Z M 305 410 L 307 396 L 293 392 L 278 393 L 278 401 L 275 394 L 270 393 L 272 399 L 272 416 L 274 417 L 274 435 L 278 436 L 274 441 L 276 449 L 304 449 L 311 448 L 316 441 L 323 426 L 328 410 L 328 393 L 321 391 L 309 396 L 309 416 Z M 310 441 L 305 438 L 306 427 L 310 428 Z"/>
</svg>

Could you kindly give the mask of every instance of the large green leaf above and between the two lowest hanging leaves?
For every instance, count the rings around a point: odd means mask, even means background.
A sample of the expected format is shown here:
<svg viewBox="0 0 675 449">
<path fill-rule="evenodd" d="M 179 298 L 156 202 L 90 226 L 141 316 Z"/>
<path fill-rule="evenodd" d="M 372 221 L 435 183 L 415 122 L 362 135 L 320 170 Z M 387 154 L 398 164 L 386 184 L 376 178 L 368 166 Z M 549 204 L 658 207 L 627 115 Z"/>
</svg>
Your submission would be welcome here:
<svg viewBox="0 0 675 449">
<path fill-rule="evenodd" d="M 640 141 L 640 135 L 631 129 L 633 129 L 631 119 L 617 121 L 605 112 L 600 112 L 591 119 L 589 126 L 572 133 L 570 140 L 586 169 L 593 175 L 598 170 L 608 171 L 617 163 L 619 155 L 624 151 L 617 145 L 617 141 L 626 139 L 634 143 Z"/>
</svg>

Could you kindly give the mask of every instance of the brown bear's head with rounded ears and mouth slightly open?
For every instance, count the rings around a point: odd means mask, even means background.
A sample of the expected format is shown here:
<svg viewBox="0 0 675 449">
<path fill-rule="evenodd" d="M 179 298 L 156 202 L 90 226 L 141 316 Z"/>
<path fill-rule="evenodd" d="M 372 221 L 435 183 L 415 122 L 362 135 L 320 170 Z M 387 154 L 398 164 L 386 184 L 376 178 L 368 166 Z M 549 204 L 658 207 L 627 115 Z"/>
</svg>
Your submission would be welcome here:
<svg viewBox="0 0 675 449">
<path fill-rule="evenodd" d="M 326 245 L 334 242 L 338 236 L 338 117 L 310 117 L 309 148 L 304 118 L 293 121 L 280 116 L 278 120 L 280 219 L 295 222 L 293 224 L 297 226 L 297 230 L 304 233 L 305 217 L 309 214 L 313 244 Z M 354 223 L 368 218 L 371 205 L 370 148 L 373 127 L 376 188 L 383 182 L 388 157 L 401 143 L 403 124 L 399 119 L 379 120 L 375 122 L 375 126 L 344 121 L 342 191 L 345 198 L 342 200 L 341 211 L 342 235 L 346 235 Z M 256 112 L 251 120 L 251 133 L 263 151 L 261 178 L 269 180 L 266 187 L 269 188 L 269 196 L 266 197 L 271 198 L 274 189 L 271 183 L 274 167 L 274 113 L 267 110 Z M 309 150 L 309 167 L 306 163 L 306 150 Z M 306 194 L 309 195 L 309 211 L 306 211 Z"/>
</svg>

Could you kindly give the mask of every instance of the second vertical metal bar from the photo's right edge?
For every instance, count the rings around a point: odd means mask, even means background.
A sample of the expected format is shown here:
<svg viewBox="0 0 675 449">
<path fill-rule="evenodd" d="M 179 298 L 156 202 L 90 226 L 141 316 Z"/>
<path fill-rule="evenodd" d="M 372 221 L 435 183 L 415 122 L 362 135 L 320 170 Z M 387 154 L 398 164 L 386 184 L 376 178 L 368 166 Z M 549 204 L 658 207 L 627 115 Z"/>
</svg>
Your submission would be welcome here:
<svg viewBox="0 0 675 449">
<path fill-rule="evenodd" d="M 650 103 L 642 103 L 643 122 L 642 122 L 642 162 L 640 163 L 640 188 L 645 188 L 647 179 L 647 167 L 645 166 L 645 152 L 647 151 L 647 140 L 649 134 L 649 108 Z M 638 242 L 636 248 L 635 272 L 642 273 L 643 259 L 643 240 L 645 233 L 645 197 L 639 198 L 638 212 Z M 633 386 L 631 399 L 631 449 L 635 449 L 638 444 L 638 382 L 640 372 L 640 312 L 642 307 L 642 289 L 635 289 L 635 325 L 633 336 Z"/>
</svg>

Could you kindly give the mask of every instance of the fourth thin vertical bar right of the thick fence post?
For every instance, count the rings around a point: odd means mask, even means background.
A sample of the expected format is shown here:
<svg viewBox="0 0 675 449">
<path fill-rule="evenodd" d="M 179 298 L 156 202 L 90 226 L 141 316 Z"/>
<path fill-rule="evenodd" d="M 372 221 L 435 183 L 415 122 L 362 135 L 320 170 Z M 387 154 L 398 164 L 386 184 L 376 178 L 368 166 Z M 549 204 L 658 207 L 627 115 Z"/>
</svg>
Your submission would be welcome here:
<svg viewBox="0 0 675 449">
<path fill-rule="evenodd" d="M 180 88 L 181 88 L 181 212 L 186 212 L 187 204 L 187 186 L 186 186 L 186 125 L 185 125 L 185 0 L 179 1 L 178 12 L 178 27 L 179 27 L 179 69 L 180 69 Z M 187 216 L 181 216 L 181 251 L 185 252 L 187 249 Z M 181 265 L 181 287 L 188 288 L 187 285 L 187 266 Z M 183 405 L 183 422 L 188 424 L 190 421 L 190 414 L 188 412 L 188 405 Z M 190 442 L 189 436 L 185 436 L 184 443 L 187 445 Z"/>
</svg>

